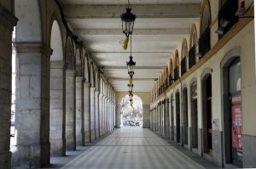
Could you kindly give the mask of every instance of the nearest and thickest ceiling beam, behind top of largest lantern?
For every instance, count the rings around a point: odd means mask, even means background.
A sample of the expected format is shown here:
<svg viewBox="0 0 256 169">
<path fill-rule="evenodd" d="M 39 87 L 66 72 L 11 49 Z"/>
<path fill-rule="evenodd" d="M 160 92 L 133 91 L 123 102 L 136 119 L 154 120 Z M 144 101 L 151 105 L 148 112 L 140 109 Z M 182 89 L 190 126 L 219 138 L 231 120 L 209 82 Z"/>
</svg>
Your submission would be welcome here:
<svg viewBox="0 0 256 169">
<path fill-rule="evenodd" d="M 126 5 L 63 5 L 67 19 L 111 19 L 120 18 Z M 199 18 L 200 3 L 137 4 L 131 5 L 137 18 Z"/>
</svg>

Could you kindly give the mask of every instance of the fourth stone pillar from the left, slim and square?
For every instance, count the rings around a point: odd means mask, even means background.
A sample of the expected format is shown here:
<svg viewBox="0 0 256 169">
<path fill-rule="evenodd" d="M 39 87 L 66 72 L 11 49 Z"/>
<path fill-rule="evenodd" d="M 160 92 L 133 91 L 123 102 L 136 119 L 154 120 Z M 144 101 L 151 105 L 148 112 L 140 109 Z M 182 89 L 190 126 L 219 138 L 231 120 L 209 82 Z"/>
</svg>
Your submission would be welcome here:
<svg viewBox="0 0 256 169">
<path fill-rule="evenodd" d="M 66 149 L 76 149 L 76 76 L 66 71 Z"/>
</svg>

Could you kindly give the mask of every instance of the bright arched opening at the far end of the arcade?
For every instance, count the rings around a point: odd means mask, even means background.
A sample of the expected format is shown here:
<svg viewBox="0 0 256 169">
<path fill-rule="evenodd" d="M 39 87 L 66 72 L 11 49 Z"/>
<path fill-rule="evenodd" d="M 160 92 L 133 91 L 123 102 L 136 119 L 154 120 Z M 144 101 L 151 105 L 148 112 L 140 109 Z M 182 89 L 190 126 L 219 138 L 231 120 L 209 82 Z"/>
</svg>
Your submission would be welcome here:
<svg viewBox="0 0 256 169">
<path fill-rule="evenodd" d="M 143 127 L 143 101 L 133 94 L 133 106 L 131 107 L 129 95 L 121 100 L 121 126 Z"/>
</svg>

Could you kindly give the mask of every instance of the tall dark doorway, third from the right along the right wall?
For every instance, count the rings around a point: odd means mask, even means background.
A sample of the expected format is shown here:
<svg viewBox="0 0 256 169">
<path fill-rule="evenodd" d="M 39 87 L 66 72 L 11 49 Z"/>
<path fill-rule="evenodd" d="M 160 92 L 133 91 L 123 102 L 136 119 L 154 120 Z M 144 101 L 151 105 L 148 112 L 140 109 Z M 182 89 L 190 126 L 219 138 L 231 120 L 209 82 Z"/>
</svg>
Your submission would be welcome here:
<svg viewBox="0 0 256 169">
<path fill-rule="evenodd" d="M 198 110 L 197 110 L 197 84 L 191 84 L 191 147 L 198 149 Z"/>
</svg>

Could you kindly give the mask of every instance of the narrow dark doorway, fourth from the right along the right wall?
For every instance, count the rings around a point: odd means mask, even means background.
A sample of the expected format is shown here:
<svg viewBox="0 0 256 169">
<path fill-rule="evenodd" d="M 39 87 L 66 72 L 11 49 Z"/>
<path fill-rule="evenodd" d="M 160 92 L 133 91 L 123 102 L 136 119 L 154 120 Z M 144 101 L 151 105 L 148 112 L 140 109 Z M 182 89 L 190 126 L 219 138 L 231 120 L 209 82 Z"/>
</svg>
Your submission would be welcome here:
<svg viewBox="0 0 256 169">
<path fill-rule="evenodd" d="M 183 89 L 183 144 L 188 144 L 188 90 Z"/>
</svg>

